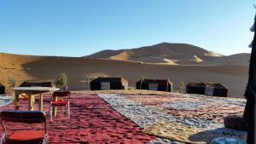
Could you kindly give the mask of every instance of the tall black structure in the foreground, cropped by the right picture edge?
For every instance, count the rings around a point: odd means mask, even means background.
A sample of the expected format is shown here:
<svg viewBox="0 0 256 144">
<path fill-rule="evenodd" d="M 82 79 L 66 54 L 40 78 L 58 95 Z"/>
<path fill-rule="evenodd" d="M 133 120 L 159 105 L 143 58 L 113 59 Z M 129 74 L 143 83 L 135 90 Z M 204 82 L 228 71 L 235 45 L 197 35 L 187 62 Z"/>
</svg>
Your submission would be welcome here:
<svg viewBox="0 0 256 144">
<path fill-rule="evenodd" d="M 247 99 L 247 104 L 245 111 L 243 113 L 243 118 L 245 119 L 247 126 L 247 143 L 255 144 L 256 135 L 255 135 L 255 92 L 256 92 L 256 34 L 255 34 L 255 25 L 256 25 L 256 15 L 254 17 L 254 24 L 251 28 L 251 31 L 254 32 L 253 43 L 251 45 L 252 52 L 249 65 L 249 78 L 247 83 L 247 88 L 245 90 L 245 98 Z"/>
</svg>

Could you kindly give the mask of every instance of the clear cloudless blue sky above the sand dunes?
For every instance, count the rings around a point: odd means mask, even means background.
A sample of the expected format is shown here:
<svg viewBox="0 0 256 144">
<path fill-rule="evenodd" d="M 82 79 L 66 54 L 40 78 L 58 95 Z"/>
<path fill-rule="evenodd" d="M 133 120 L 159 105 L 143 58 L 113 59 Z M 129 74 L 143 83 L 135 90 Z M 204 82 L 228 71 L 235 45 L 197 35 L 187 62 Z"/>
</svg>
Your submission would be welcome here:
<svg viewBox="0 0 256 144">
<path fill-rule="evenodd" d="M 90 55 L 156 43 L 191 43 L 223 55 L 250 52 L 253 0 L 3 0 L 0 52 Z"/>
</svg>

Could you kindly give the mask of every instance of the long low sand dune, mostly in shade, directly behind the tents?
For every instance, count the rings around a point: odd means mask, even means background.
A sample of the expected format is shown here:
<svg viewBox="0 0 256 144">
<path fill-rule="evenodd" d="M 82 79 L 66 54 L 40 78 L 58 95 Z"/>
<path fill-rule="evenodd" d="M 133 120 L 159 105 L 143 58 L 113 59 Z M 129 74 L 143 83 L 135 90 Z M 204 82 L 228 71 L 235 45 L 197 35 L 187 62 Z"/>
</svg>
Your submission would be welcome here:
<svg viewBox="0 0 256 144">
<path fill-rule="evenodd" d="M 221 83 L 229 88 L 230 97 L 242 97 L 247 84 L 247 66 L 241 65 L 158 65 L 141 64 L 123 60 L 101 60 L 75 57 L 47 57 L 0 54 L 0 83 L 7 84 L 13 77 L 17 84 L 23 81 L 54 81 L 61 73 L 67 73 L 68 88 L 81 90 L 84 75 L 124 77 L 134 87 L 139 76 L 169 78 L 174 89 L 180 82 L 190 81 Z"/>
</svg>

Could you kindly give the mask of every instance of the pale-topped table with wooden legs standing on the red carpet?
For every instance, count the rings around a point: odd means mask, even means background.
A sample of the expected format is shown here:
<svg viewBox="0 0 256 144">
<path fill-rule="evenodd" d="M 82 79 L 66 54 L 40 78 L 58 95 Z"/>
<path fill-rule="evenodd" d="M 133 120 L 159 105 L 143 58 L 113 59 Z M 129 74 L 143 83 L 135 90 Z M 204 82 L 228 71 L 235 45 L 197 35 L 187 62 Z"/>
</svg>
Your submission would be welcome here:
<svg viewBox="0 0 256 144">
<path fill-rule="evenodd" d="M 34 105 L 32 99 L 34 98 L 34 95 L 39 95 L 39 105 L 38 109 L 39 111 L 43 111 L 43 100 L 44 95 L 43 93 L 47 92 L 54 92 L 59 90 L 59 88 L 54 87 L 18 87 L 14 88 L 15 90 L 15 110 L 19 110 L 20 102 L 19 102 L 19 94 L 20 93 L 26 93 L 28 96 L 28 111 L 33 111 Z"/>
</svg>

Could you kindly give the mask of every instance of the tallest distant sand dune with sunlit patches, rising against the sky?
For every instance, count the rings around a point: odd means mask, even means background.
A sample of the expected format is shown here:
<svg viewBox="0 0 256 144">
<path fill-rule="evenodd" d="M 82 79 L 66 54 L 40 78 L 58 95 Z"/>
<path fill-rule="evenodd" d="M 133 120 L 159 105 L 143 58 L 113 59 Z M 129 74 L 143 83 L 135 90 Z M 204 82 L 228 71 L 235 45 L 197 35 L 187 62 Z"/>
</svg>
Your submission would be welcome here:
<svg viewBox="0 0 256 144">
<path fill-rule="evenodd" d="M 103 50 L 89 58 L 133 60 L 166 65 L 242 65 L 247 66 L 249 54 L 220 55 L 185 43 L 159 43 L 137 49 Z"/>
</svg>

